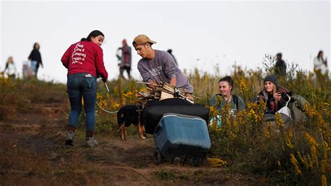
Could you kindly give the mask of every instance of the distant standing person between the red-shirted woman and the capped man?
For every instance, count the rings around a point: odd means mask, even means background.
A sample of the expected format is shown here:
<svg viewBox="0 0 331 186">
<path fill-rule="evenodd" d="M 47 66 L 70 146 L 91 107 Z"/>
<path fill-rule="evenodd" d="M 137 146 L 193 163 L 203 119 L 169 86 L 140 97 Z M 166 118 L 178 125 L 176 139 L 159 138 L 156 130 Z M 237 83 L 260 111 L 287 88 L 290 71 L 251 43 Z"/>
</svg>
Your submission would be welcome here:
<svg viewBox="0 0 331 186">
<path fill-rule="evenodd" d="M 119 76 L 124 78 L 123 73 L 126 70 L 128 73 L 128 78 L 131 78 L 130 71 L 131 71 L 131 47 L 128 46 L 126 43 L 126 39 L 122 41 L 122 48 L 118 48 L 118 50 L 122 50 L 122 55 L 117 55 L 117 59 L 121 61 L 119 64 Z M 125 78 L 124 78 L 125 79 Z"/>
</svg>

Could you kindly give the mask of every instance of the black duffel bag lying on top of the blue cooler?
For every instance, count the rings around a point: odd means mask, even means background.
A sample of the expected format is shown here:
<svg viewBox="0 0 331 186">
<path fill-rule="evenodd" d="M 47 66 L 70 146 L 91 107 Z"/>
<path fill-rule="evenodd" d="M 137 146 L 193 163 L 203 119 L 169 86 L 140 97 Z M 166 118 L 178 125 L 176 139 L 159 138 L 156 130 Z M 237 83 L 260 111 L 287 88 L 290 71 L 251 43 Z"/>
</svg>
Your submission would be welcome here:
<svg viewBox="0 0 331 186">
<path fill-rule="evenodd" d="M 197 103 L 190 103 L 184 99 L 164 99 L 162 101 L 151 100 L 142 111 L 140 122 L 144 124 L 147 134 L 154 134 L 154 129 L 165 113 L 177 113 L 193 115 L 203 118 L 208 123 L 209 110 Z"/>
</svg>

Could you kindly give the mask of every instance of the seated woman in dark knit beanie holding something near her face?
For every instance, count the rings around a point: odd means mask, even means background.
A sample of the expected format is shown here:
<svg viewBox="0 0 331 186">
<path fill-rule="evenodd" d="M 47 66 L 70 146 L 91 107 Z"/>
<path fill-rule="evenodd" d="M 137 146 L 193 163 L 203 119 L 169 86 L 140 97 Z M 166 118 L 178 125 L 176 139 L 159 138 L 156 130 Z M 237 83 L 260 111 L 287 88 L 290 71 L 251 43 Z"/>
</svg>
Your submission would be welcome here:
<svg viewBox="0 0 331 186">
<path fill-rule="evenodd" d="M 263 90 L 256 96 L 253 102 L 259 103 L 260 98 L 267 102 L 265 108 L 266 114 L 275 114 L 277 110 L 281 109 L 286 104 L 287 90 L 281 88 L 278 83 L 277 77 L 274 75 L 269 75 L 263 80 L 264 87 Z"/>
</svg>

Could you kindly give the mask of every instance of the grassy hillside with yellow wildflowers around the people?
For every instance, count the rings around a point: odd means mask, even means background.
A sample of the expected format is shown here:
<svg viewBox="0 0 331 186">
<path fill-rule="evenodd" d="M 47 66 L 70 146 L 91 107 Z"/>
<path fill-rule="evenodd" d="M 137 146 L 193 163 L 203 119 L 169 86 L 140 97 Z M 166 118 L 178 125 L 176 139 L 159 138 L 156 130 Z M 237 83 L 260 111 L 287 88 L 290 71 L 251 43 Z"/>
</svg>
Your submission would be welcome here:
<svg viewBox="0 0 331 186">
<path fill-rule="evenodd" d="M 267 62 L 257 71 L 243 71 L 235 66 L 230 75 L 235 81 L 235 94 L 247 103 L 247 108 L 230 117 L 228 108 L 222 110 L 221 128 L 213 123 L 209 127 L 212 149 L 208 157 L 214 166 L 226 167 L 229 173 L 264 175 L 274 183 L 330 185 L 331 144 L 331 80 L 325 76 L 304 73 L 297 66 L 289 66 L 286 77 L 279 82 L 290 92 L 303 96 L 310 105 L 304 106 L 306 122 L 285 125 L 279 115 L 275 125 L 263 120 L 263 104 L 251 100 L 262 90 L 263 77 L 272 72 Z M 198 69 L 187 74 L 193 85 L 196 102 L 209 108 L 209 99 L 218 92 L 219 76 L 201 74 Z M 137 101 L 135 93 L 144 90 L 144 85 L 134 80 L 112 80 L 108 82 L 110 93 L 103 83 L 98 83 L 98 103 L 107 110 L 118 110 L 120 106 Z M 29 103 L 64 101 L 63 117 L 69 111 L 66 85 L 45 83 L 38 80 L 9 80 L 0 78 L 0 120 L 29 110 Z M 210 117 L 217 114 L 210 107 Z M 96 108 L 96 134 L 115 135 L 116 115 Z M 84 115 L 80 117 L 80 129 L 84 130 Z M 136 134 L 131 129 L 131 134 Z"/>
</svg>

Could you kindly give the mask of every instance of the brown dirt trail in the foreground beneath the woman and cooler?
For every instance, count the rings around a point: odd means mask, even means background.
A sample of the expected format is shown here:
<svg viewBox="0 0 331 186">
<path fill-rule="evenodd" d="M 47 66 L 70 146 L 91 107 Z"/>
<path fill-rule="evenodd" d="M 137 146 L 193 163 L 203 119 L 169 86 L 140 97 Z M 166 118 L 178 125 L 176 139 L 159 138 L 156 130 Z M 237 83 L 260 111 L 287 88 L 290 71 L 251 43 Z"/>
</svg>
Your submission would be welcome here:
<svg viewBox="0 0 331 186">
<path fill-rule="evenodd" d="M 251 177 L 212 166 L 153 162 L 152 137 L 96 136 L 98 147 L 64 145 L 68 103 L 64 98 L 27 103 L 29 111 L 0 120 L 0 185 L 253 185 Z M 133 127 L 133 126 L 131 126 Z"/>
</svg>

